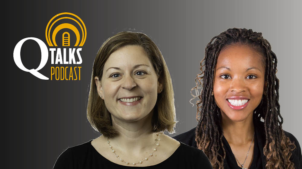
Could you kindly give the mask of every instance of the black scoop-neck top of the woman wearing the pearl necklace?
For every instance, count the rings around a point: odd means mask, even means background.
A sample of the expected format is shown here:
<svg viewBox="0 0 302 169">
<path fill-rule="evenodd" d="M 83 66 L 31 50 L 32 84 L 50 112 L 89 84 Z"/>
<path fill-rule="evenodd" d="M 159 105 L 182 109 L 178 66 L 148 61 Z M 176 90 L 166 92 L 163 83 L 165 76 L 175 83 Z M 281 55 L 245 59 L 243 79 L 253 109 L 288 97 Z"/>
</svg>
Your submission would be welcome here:
<svg viewBox="0 0 302 169">
<path fill-rule="evenodd" d="M 202 166 L 202 168 L 204 169 L 213 169 L 209 159 L 203 151 L 185 145 L 182 142 L 180 143 L 180 146 L 175 150 L 175 152 L 165 161 L 162 161 L 161 163 L 152 166 L 139 167 L 139 164 L 136 164 L 135 166 L 133 166 L 132 164 L 129 164 L 129 166 L 123 166 L 109 161 L 108 159 L 100 155 L 98 151 L 95 150 L 95 148 L 91 145 L 91 141 L 86 142 L 82 145 L 67 148 L 59 156 L 53 169 L 183 169 L 200 168 L 200 166 Z"/>
</svg>

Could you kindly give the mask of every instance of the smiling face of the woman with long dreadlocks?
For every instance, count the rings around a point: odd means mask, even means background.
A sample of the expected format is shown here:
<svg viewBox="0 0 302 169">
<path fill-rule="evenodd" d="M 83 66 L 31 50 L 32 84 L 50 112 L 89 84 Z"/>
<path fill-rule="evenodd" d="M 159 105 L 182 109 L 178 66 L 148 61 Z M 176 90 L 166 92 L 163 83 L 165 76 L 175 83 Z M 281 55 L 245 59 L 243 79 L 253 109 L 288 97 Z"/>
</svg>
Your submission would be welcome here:
<svg viewBox="0 0 302 169">
<path fill-rule="evenodd" d="M 223 119 L 252 119 L 264 89 L 261 54 L 250 46 L 234 44 L 220 51 L 214 78 L 214 98 Z"/>
</svg>

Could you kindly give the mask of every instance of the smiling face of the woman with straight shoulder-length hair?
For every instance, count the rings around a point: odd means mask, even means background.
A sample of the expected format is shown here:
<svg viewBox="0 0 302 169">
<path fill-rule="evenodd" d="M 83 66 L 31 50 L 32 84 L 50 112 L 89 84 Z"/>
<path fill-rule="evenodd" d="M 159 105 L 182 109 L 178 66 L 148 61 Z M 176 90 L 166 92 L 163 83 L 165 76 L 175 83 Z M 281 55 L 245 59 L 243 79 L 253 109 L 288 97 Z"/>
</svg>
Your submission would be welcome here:
<svg viewBox="0 0 302 169">
<path fill-rule="evenodd" d="M 111 117 L 122 122 L 146 117 L 162 90 L 146 51 L 137 45 L 114 51 L 104 65 L 101 80 L 95 77 L 95 83 Z"/>
</svg>

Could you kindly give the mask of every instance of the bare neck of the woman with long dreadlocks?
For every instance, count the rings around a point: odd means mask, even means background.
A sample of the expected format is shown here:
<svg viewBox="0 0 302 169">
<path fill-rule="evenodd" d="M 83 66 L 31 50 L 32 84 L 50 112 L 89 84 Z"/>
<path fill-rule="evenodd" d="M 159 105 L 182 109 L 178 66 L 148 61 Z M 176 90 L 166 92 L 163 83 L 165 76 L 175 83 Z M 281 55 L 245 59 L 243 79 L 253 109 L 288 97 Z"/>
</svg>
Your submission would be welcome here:
<svg viewBox="0 0 302 169">
<path fill-rule="evenodd" d="M 250 113 L 245 120 L 240 122 L 231 120 L 224 113 L 221 114 L 223 136 L 229 143 L 243 145 L 252 140 L 255 133 L 252 113 Z"/>
</svg>

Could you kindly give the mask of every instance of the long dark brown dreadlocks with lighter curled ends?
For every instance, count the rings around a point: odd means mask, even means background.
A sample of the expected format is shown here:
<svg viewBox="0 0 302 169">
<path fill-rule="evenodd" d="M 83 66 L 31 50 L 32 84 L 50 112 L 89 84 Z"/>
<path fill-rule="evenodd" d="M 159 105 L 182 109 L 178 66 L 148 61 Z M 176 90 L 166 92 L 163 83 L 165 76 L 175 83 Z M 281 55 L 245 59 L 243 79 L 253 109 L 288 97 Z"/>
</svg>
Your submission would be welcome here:
<svg viewBox="0 0 302 169">
<path fill-rule="evenodd" d="M 262 54 L 262 62 L 265 65 L 265 83 L 267 84 L 264 90 L 265 94 L 263 94 L 261 103 L 253 113 L 254 120 L 264 119 L 266 142 L 263 152 L 266 156 L 265 168 L 294 169 L 294 163 L 290 161 L 290 157 L 295 145 L 285 136 L 282 129 L 283 118 L 280 114 L 280 104 L 278 102 L 279 80 L 276 77 L 277 58 L 275 53 L 271 51 L 269 42 L 262 37 L 262 33 L 253 32 L 251 29 L 228 29 L 213 37 L 205 48 L 204 59 L 200 62 L 201 73 L 196 76 L 196 86 L 191 89 L 191 93 L 194 90 L 196 92 L 196 95 L 191 95 L 194 98 L 199 98 L 196 101 L 196 118 L 199 121 L 195 131 L 197 147 L 204 151 L 214 169 L 223 168 L 226 153 L 221 140 L 223 137 L 220 124 L 221 112 L 211 94 L 218 55 L 223 47 L 235 43 L 253 47 Z M 198 89 L 201 89 L 200 95 Z"/>
</svg>

